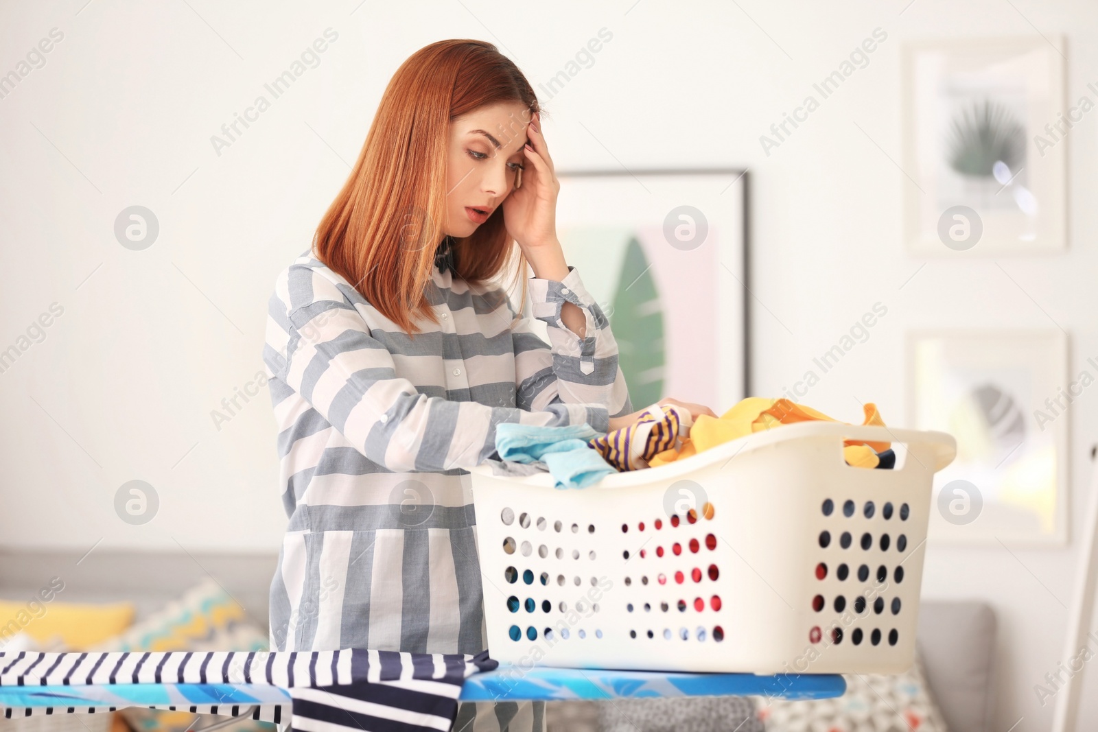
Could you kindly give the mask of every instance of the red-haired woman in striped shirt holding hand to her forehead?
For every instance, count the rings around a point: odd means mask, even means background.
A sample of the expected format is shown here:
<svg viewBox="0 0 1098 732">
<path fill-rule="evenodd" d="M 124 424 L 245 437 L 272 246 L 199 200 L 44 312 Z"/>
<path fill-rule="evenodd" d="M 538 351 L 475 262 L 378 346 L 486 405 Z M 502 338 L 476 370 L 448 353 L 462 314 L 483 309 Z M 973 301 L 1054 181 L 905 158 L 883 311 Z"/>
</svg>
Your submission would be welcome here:
<svg viewBox="0 0 1098 732">
<path fill-rule="evenodd" d="M 494 453 L 498 423 L 607 431 L 640 414 L 557 239 L 560 183 L 538 113 L 493 45 L 416 52 L 312 250 L 277 280 L 264 360 L 290 523 L 270 590 L 274 650 L 484 650 L 463 469 Z M 551 346 L 491 284 L 513 240 Z M 462 705 L 456 729 L 544 728 L 542 703 L 475 707 Z"/>
</svg>

